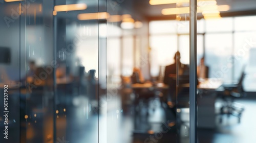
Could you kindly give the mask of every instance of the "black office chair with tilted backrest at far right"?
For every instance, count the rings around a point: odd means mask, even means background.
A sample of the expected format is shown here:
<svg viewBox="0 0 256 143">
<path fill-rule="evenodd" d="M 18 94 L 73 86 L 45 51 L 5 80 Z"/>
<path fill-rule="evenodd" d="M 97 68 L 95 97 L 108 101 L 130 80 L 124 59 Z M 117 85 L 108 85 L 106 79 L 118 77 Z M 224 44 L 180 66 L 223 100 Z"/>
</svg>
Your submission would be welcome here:
<svg viewBox="0 0 256 143">
<path fill-rule="evenodd" d="M 245 73 L 242 72 L 238 84 L 223 85 L 224 91 L 221 94 L 223 105 L 220 110 L 220 114 L 222 115 L 220 118 L 220 123 L 223 121 L 222 117 L 224 114 L 226 114 L 228 117 L 230 115 L 237 116 L 238 122 L 241 122 L 241 116 L 244 111 L 244 107 L 242 105 L 236 105 L 234 100 L 245 97 L 245 92 L 242 85 L 244 77 Z"/>
</svg>

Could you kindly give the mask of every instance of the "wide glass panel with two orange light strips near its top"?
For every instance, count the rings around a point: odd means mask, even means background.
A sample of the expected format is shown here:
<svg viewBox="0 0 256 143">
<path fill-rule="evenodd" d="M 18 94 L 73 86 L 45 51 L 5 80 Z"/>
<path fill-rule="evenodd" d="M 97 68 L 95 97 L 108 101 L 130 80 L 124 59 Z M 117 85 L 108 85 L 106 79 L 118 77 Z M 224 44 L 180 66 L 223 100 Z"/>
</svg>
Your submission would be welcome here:
<svg viewBox="0 0 256 143">
<path fill-rule="evenodd" d="M 106 88 L 104 3 L 56 1 L 54 9 L 60 5 L 77 9 L 54 16 L 56 142 L 98 142 L 98 101 Z"/>
</svg>

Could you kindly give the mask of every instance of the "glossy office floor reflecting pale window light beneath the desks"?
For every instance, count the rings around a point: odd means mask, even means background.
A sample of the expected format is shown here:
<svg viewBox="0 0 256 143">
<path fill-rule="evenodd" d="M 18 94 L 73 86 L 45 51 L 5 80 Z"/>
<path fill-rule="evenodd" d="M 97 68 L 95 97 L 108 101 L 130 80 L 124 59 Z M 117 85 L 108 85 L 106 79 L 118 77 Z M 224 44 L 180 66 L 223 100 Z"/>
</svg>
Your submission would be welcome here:
<svg viewBox="0 0 256 143">
<path fill-rule="evenodd" d="M 256 140 L 255 130 L 256 124 L 256 100 L 255 99 L 243 99 L 237 101 L 244 105 L 245 111 L 242 115 L 241 123 L 238 124 L 237 118 L 230 116 L 230 118 L 224 117 L 223 123 L 218 123 L 216 130 L 198 129 L 198 142 L 199 143 L 253 143 Z M 139 124 L 140 129 L 153 130 L 155 133 L 160 131 L 163 124 L 159 124 L 159 121 L 163 118 L 163 110 L 160 108 L 157 100 L 155 101 L 156 108 L 154 112 L 150 113 L 148 120 L 152 123 L 149 128 L 146 126 L 146 121 Z M 158 138 L 152 139 L 153 134 L 145 132 L 134 133 L 134 117 L 133 107 L 124 113 L 121 109 L 121 100 L 118 97 L 113 97 L 108 101 L 108 110 L 102 111 L 99 116 L 97 114 L 91 114 L 88 120 L 84 112 L 79 111 L 77 108 L 69 108 L 71 113 L 67 114 L 67 119 L 60 117 L 57 119 L 57 137 L 59 140 L 67 140 L 70 142 L 111 142 L 111 143 L 144 143 L 144 142 L 189 142 L 189 137 L 184 135 L 177 135 L 175 128 L 169 129 L 167 133 L 158 134 Z M 102 108 L 106 109 L 106 108 Z M 142 109 L 144 110 L 144 109 Z M 82 111 L 82 110 L 81 110 Z M 81 114 L 84 114 L 83 118 Z M 69 116 L 69 117 L 68 117 Z M 98 122 L 99 120 L 99 122 Z M 145 120 L 145 119 L 141 119 Z M 72 122 L 71 122 L 72 121 Z M 38 123 L 40 121 L 37 121 Z M 68 123 L 70 122 L 70 123 Z M 42 130 L 42 127 L 37 126 L 39 124 L 31 124 L 30 128 Z M 137 127 L 138 128 L 138 127 Z M 35 130 L 34 130 L 35 131 Z M 39 131 L 38 131 L 39 132 Z M 98 136 L 99 135 L 99 136 Z M 64 138 L 63 138 L 64 137 Z M 40 136 L 34 136 L 28 142 L 38 141 Z M 58 140 L 58 141 L 59 141 Z M 180 140 L 180 141 L 176 141 Z"/>
</svg>

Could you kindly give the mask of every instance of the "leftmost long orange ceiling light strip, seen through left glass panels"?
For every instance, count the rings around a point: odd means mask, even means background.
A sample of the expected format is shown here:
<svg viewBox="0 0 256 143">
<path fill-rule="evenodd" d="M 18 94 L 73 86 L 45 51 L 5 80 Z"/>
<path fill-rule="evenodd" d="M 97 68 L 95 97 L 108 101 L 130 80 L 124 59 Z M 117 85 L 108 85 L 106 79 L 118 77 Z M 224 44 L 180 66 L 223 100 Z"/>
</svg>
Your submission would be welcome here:
<svg viewBox="0 0 256 143">
<path fill-rule="evenodd" d="M 85 10 L 87 9 L 86 4 L 71 4 L 71 5 L 58 5 L 54 6 L 54 11 L 74 11 L 74 10 Z"/>
</svg>

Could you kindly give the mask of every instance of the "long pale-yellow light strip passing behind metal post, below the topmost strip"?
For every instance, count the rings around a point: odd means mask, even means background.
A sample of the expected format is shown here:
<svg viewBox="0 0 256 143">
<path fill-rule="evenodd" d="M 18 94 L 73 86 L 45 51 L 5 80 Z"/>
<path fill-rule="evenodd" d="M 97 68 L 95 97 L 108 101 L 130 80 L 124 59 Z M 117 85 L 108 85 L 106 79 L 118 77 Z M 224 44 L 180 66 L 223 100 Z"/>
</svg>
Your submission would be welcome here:
<svg viewBox="0 0 256 143">
<path fill-rule="evenodd" d="M 207 6 L 207 7 L 197 7 L 197 12 L 201 13 L 203 11 L 228 11 L 230 7 L 228 5 L 221 5 L 218 7 L 214 6 Z M 183 7 L 183 8 L 169 8 L 169 9 L 163 9 L 162 14 L 163 15 L 172 15 L 172 14 L 186 14 L 189 13 L 189 7 Z"/>
</svg>

